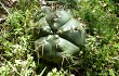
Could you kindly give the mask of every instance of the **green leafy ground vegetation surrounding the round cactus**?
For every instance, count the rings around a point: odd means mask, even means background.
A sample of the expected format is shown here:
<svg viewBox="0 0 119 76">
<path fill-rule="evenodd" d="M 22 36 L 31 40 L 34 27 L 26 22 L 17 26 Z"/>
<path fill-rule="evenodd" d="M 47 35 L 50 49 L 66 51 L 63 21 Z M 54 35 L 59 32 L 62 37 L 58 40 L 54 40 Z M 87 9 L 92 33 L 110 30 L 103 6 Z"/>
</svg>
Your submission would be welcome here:
<svg viewBox="0 0 119 76">
<path fill-rule="evenodd" d="M 38 0 L 1 0 L 0 76 L 118 76 L 119 75 L 119 1 L 64 0 L 50 4 L 65 9 L 82 22 L 85 45 L 67 65 L 47 62 L 35 52 L 34 28 L 42 18 Z M 50 1 L 50 0 L 49 0 Z M 58 1 L 58 0 L 57 0 Z M 5 2 L 9 2 L 6 8 Z M 2 10 L 2 11 L 1 11 Z"/>
</svg>

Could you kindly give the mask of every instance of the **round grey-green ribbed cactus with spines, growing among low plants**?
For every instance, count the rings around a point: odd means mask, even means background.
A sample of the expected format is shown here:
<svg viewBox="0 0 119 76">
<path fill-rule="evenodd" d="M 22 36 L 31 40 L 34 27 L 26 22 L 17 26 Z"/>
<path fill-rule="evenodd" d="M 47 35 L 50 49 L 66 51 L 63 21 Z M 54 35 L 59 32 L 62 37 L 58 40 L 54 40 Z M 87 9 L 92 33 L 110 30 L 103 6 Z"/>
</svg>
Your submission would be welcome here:
<svg viewBox="0 0 119 76">
<path fill-rule="evenodd" d="M 64 58 L 74 56 L 84 45 L 82 23 L 64 10 L 48 13 L 39 21 L 35 49 L 45 61 L 61 63 Z"/>
</svg>

